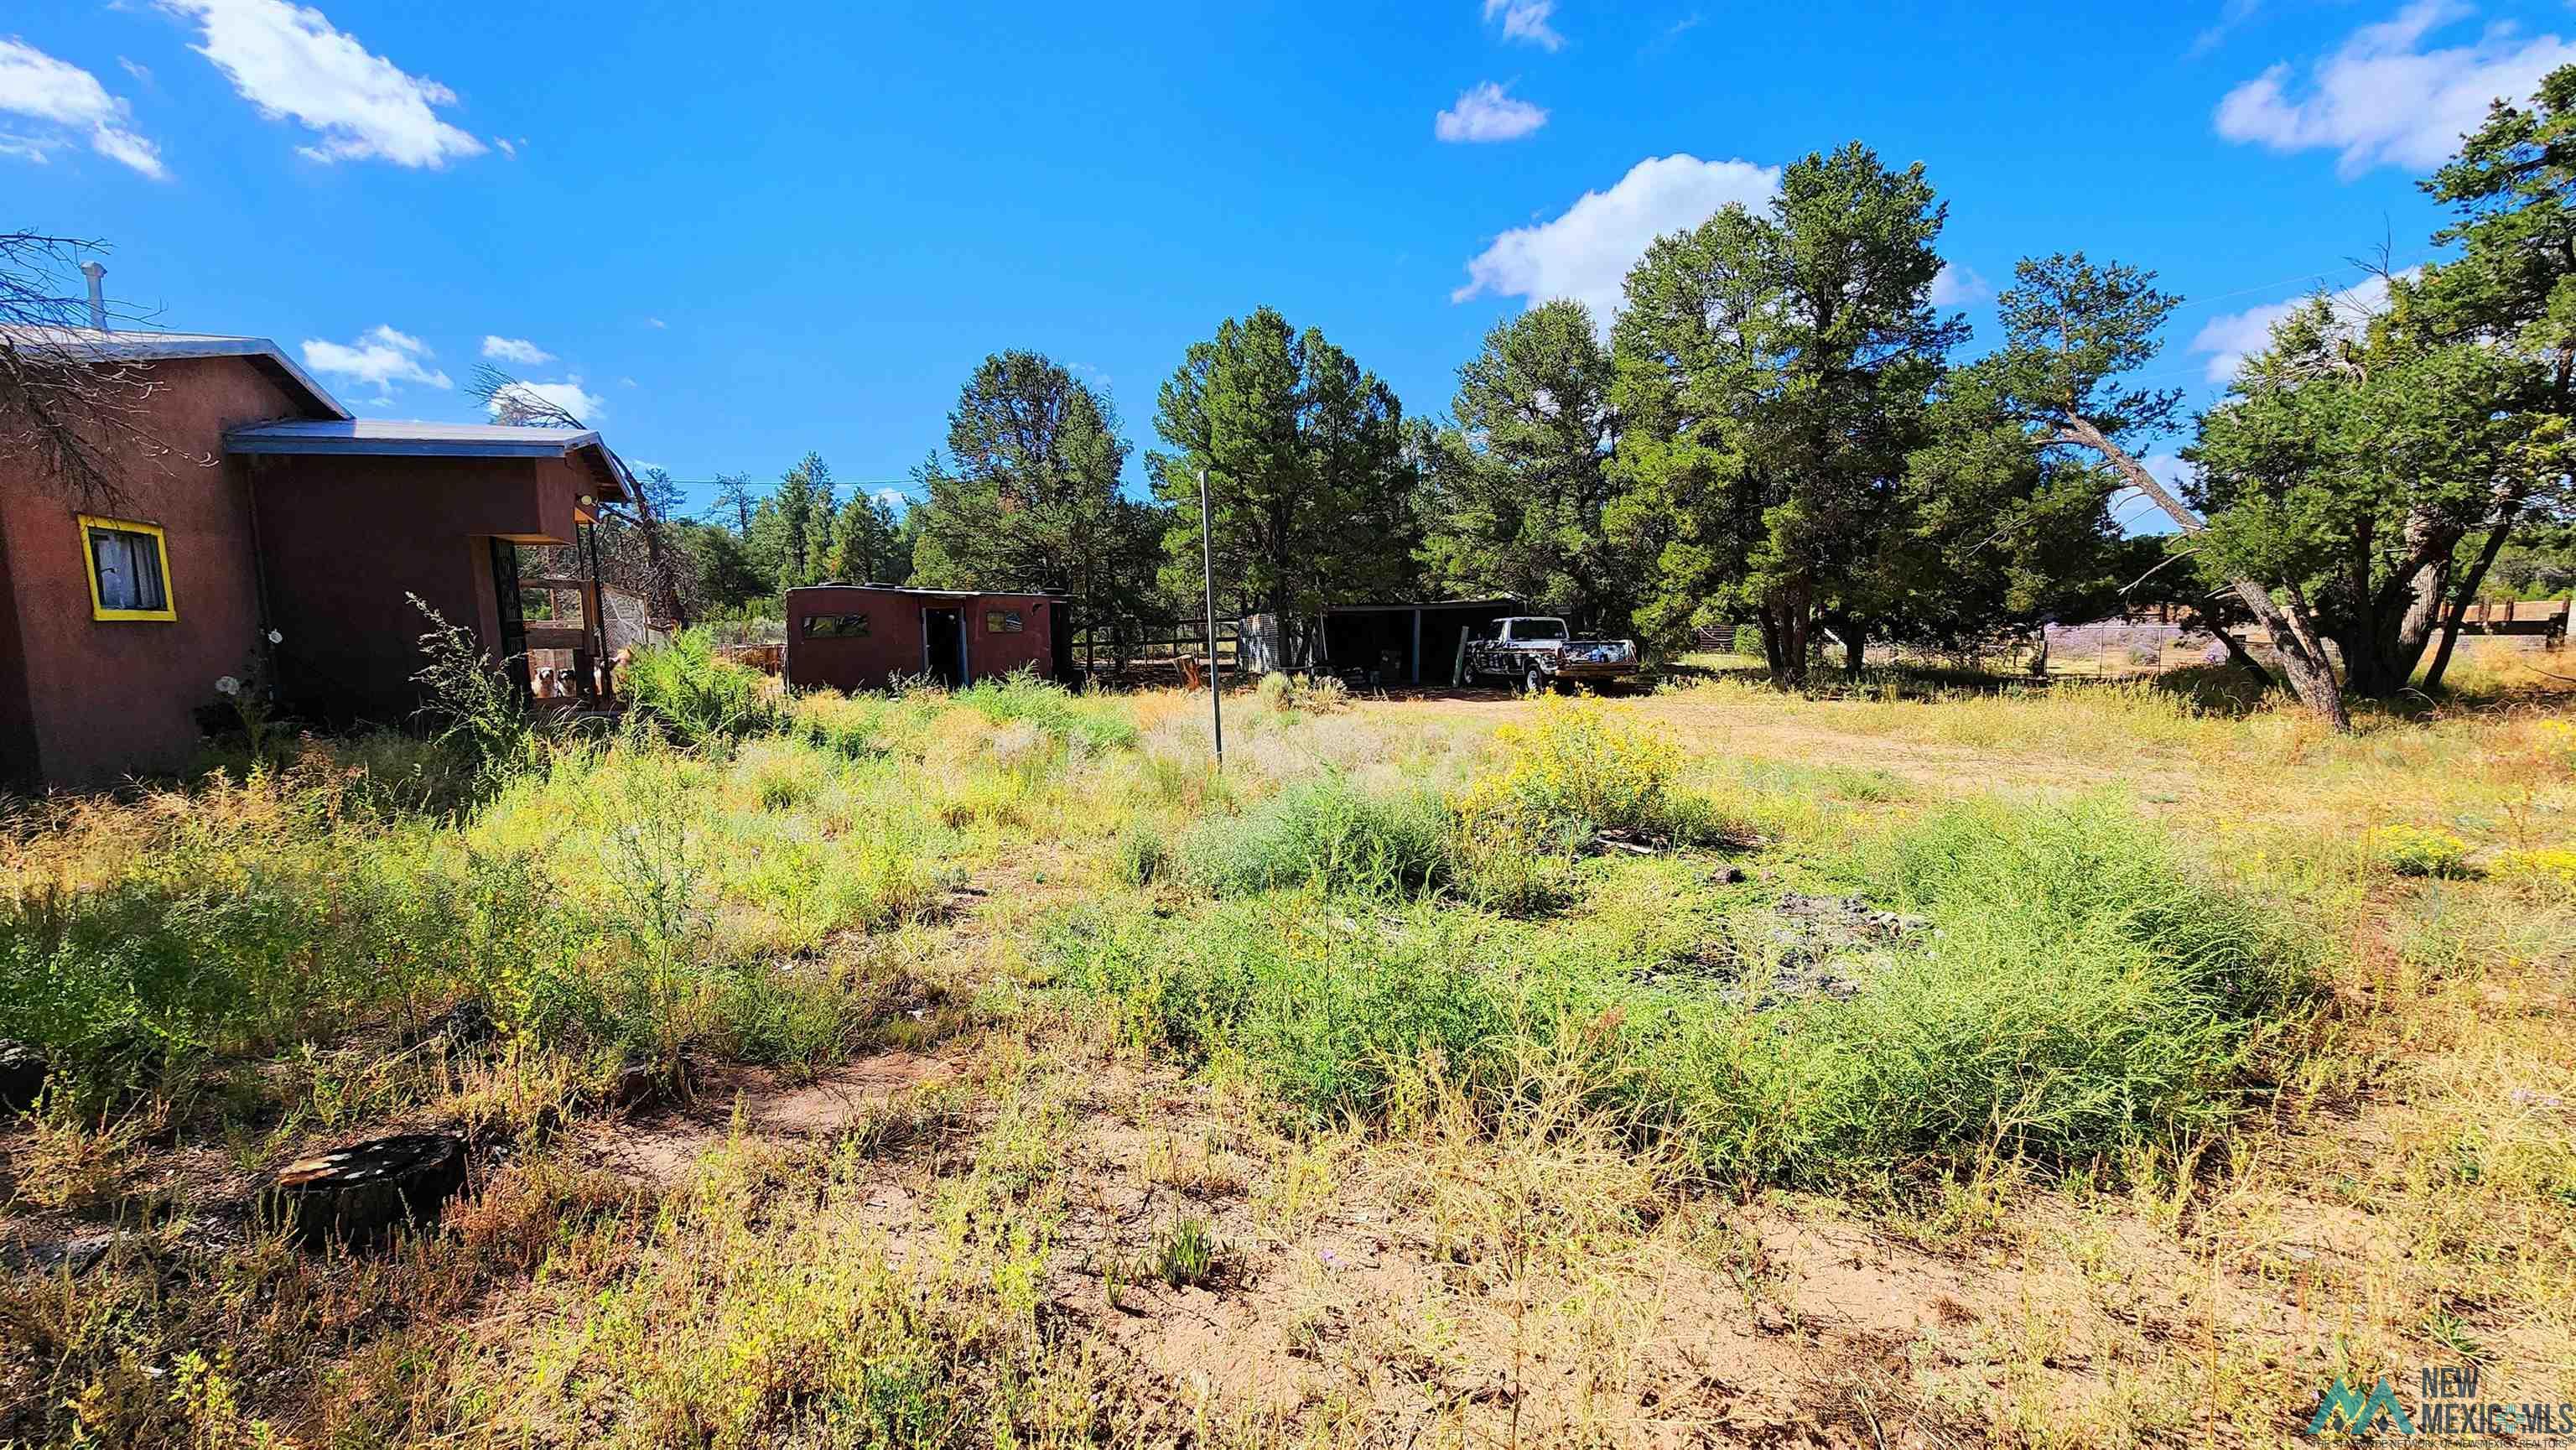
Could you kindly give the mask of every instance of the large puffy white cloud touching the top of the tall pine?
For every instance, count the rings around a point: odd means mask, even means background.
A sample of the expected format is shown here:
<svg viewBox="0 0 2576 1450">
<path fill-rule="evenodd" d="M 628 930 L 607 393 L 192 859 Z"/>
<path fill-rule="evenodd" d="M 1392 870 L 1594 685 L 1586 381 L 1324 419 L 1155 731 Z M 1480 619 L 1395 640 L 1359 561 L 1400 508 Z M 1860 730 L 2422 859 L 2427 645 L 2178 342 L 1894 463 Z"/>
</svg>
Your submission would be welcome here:
<svg viewBox="0 0 2576 1450">
<path fill-rule="evenodd" d="M 1646 157 L 1610 191 L 1587 191 L 1564 216 L 1515 227 L 1466 265 L 1471 296 L 1520 296 L 1530 306 L 1571 296 L 1610 325 L 1620 309 L 1620 283 L 1667 232 L 1698 227 L 1728 201 L 1762 206 L 1780 188 L 1780 167 L 1703 162 L 1692 155 Z"/>
</svg>

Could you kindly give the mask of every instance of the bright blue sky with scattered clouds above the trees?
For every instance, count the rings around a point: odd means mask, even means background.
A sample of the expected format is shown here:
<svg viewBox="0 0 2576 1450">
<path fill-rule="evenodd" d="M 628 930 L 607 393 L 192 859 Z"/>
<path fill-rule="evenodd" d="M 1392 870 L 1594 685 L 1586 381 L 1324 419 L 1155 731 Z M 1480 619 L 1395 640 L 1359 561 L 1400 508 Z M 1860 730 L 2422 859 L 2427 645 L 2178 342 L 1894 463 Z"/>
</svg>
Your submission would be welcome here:
<svg viewBox="0 0 2576 1450">
<path fill-rule="evenodd" d="M 487 350 L 629 458 L 902 479 L 974 363 L 1154 389 L 1278 306 L 1445 412 L 1481 332 L 1615 299 L 1656 232 L 1852 137 L 1950 201 L 1947 294 L 2025 252 L 2159 268 L 2164 379 L 2414 263 L 2416 178 L 2576 59 L 2558 5 L 1844 0 L 443 5 L 15 0 L 0 227 L 252 332 L 386 417 Z"/>
</svg>

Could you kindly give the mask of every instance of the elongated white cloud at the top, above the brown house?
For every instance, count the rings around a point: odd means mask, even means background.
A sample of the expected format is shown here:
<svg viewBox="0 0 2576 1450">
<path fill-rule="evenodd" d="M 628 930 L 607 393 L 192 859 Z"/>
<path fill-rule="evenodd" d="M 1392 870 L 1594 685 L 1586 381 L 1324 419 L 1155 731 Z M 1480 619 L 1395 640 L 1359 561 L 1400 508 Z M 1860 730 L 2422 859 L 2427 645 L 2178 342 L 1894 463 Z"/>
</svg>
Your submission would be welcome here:
<svg viewBox="0 0 2576 1450">
<path fill-rule="evenodd" d="M 381 157 L 404 167 L 443 167 L 484 144 L 438 118 L 456 93 L 368 54 L 322 10 L 289 0 L 162 0 L 204 28 L 193 46 L 270 121 L 294 116 L 319 137 L 296 147 L 317 162 Z"/>
</svg>

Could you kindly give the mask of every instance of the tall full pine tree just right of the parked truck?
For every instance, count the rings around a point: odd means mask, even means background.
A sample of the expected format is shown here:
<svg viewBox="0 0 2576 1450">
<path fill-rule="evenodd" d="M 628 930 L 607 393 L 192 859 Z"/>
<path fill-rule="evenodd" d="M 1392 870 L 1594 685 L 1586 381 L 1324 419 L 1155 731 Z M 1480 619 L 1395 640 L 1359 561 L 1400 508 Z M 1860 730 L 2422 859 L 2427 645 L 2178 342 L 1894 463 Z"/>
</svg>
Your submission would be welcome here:
<svg viewBox="0 0 2576 1450">
<path fill-rule="evenodd" d="M 1891 605 L 1873 559 L 1947 350 L 1932 309 L 1945 206 L 1922 165 L 1808 155 L 1765 214 L 1656 240 L 1615 327 L 1618 533 L 1659 556 L 1659 634 L 1754 616 L 1772 680 L 1803 685 L 1819 628 L 1857 667 Z"/>
</svg>

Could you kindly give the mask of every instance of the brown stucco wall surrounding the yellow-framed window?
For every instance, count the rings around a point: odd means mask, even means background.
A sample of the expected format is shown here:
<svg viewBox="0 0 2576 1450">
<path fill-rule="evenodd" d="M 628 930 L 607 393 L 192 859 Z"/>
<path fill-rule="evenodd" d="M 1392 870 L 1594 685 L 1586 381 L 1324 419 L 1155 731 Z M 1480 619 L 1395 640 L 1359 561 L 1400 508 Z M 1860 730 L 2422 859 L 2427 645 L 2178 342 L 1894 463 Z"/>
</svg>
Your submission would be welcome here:
<svg viewBox="0 0 2576 1450">
<path fill-rule="evenodd" d="M 224 458 L 224 430 L 304 407 L 247 358 L 165 361 L 155 381 L 139 422 L 170 453 L 118 448 L 124 502 L 88 513 L 167 531 L 175 621 L 90 618 L 82 510 L 31 458 L 0 458 L 0 775 L 13 786 L 191 765 L 193 711 L 250 662 L 260 613 L 247 469 Z"/>
</svg>

